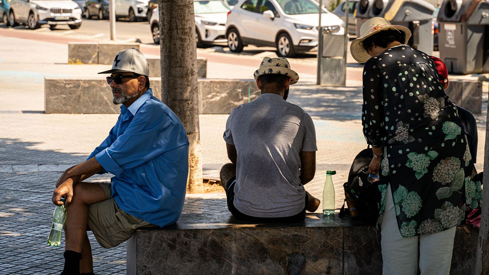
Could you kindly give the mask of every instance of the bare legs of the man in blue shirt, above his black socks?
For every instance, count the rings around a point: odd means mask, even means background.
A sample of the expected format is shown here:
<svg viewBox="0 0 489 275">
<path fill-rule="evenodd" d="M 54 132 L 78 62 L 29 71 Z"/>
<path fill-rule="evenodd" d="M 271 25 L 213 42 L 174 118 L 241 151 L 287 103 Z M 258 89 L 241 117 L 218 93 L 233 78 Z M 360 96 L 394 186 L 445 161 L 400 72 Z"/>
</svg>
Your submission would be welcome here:
<svg viewBox="0 0 489 275">
<path fill-rule="evenodd" d="M 91 272 L 92 254 L 87 236 L 89 205 L 105 200 L 104 189 L 98 183 L 77 183 L 73 190 L 73 199 L 67 206 L 65 222 L 66 251 L 82 253 L 80 270 Z"/>
</svg>

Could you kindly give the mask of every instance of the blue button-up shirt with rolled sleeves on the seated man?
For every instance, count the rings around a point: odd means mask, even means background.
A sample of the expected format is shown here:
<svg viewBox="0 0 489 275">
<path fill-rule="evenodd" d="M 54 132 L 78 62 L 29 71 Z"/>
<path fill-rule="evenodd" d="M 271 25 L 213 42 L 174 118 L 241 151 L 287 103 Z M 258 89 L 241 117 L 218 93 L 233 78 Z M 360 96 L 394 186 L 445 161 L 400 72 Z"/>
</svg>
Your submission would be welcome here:
<svg viewBox="0 0 489 275">
<path fill-rule="evenodd" d="M 177 222 L 185 200 L 188 139 L 177 115 L 153 96 L 142 94 L 121 114 L 90 154 L 111 179 L 112 198 L 125 212 L 164 227 Z"/>
</svg>

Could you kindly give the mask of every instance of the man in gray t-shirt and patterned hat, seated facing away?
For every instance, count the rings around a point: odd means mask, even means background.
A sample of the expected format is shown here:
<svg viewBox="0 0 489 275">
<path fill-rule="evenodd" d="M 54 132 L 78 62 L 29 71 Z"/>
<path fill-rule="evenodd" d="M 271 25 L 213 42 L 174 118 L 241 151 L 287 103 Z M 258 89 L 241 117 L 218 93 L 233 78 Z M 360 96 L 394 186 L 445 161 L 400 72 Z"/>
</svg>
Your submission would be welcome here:
<svg viewBox="0 0 489 275">
<path fill-rule="evenodd" d="M 262 94 L 235 108 L 224 132 L 232 162 L 221 169 L 228 208 L 241 220 L 300 221 L 320 202 L 304 189 L 315 173 L 314 124 L 285 100 L 299 76 L 286 58 L 266 57 L 254 77 Z"/>
</svg>

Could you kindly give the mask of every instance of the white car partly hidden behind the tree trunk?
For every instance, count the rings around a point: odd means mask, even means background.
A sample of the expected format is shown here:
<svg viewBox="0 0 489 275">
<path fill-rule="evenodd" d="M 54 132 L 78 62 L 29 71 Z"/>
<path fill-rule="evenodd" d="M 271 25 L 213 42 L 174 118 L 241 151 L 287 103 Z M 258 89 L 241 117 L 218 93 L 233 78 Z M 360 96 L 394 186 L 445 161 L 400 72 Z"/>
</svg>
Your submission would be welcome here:
<svg viewBox="0 0 489 275">
<path fill-rule="evenodd" d="M 198 47 L 206 44 L 226 42 L 224 36 L 226 15 L 230 11 L 221 0 L 194 0 L 196 43 Z M 153 40 L 159 44 L 158 8 L 151 17 Z"/>
</svg>

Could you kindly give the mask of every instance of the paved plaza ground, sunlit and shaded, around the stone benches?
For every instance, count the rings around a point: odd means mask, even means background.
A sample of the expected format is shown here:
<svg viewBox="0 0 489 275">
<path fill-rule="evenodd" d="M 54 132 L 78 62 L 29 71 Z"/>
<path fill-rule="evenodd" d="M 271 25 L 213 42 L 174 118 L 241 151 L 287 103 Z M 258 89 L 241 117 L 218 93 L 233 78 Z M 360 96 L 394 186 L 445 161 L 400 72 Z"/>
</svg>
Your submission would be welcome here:
<svg viewBox="0 0 489 275">
<path fill-rule="evenodd" d="M 67 46 L 49 42 L 25 44 L 19 38 L 0 37 L 0 275 L 59 274 L 63 244 L 46 245 L 54 206 L 50 202 L 55 181 L 66 167 L 87 158 L 107 136 L 117 115 L 43 114 L 45 76 L 96 76 L 103 65 L 66 65 Z M 208 77 L 248 74 L 219 70 L 209 63 Z M 229 67 L 231 68 L 231 67 Z M 301 82 L 300 82 L 301 83 Z M 487 82 L 485 83 L 487 85 Z M 109 90 L 108 90 L 109 92 Z M 487 94 L 484 96 L 487 104 Z M 321 198 L 326 170 L 333 176 L 336 207 L 343 201 L 342 184 L 356 154 L 366 147 L 360 124 L 361 83 L 343 88 L 311 84 L 291 87 L 289 102 L 311 114 L 318 144 L 317 172 L 306 190 Z M 222 133 L 228 115 L 200 115 L 204 175 L 218 177 L 226 157 Z M 476 115 L 479 160 L 483 159 L 486 112 Z M 481 163 L 477 164 L 482 169 Z M 93 177 L 107 181 L 110 175 Z M 188 194 L 184 212 L 225 212 L 224 192 Z M 89 234 L 98 275 L 125 274 L 126 247 L 106 250 Z"/>
</svg>

